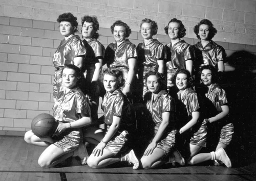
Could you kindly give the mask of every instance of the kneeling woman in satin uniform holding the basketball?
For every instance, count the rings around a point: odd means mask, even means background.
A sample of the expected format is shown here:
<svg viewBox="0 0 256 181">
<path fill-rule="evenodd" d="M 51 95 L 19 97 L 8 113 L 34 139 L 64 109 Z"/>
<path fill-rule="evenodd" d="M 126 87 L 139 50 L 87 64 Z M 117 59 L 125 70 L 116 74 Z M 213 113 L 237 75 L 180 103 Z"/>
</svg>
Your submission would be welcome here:
<svg viewBox="0 0 256 181">
<path fill-rule="evenodd" d="M 59 123 L 55 136 L 39 138 L 32 131 L 25 134 L 27 143 L 47 147 L 38 159 L 42 168 L 57 165 L 71 156 L 79 156 L 82 165 L 87 162 L 81 127 L 89 125 L 91 118 L 88 100 L 77 87 L 80 76 L 81 70 L 75 65 L 66 65 L 62 70 L 64 88 L 58 93 L 53 107 L 53 116 Z"/>
</svg>

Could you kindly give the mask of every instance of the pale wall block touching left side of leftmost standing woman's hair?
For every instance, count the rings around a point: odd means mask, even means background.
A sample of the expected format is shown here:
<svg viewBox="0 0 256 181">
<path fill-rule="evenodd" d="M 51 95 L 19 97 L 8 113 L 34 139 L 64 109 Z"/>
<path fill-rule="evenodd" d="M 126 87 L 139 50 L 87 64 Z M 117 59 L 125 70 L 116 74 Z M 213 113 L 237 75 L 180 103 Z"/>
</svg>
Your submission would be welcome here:
<svg viewBox="0 0 256 181">
<path fill-rule="evenodd" d="M 61 11 L 34 8 L 33 19 L 55 22 Z"/>
</svg>

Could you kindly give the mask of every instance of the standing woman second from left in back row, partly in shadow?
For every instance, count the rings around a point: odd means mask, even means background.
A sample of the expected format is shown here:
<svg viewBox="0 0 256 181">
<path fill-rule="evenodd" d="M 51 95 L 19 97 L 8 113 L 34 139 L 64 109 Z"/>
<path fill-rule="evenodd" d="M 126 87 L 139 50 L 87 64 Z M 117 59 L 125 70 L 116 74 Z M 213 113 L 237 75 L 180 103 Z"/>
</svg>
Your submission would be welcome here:
<svg viewBox="0 0 256 181">
<path fill-rule="evenodd" d="M 82 85 L 86 87 L 86 96 L 89 98 L 91 106 L 92 119 L 98 119 L 99 96 L 103 97 L 105 91 L 99 79 L 99 74 L 102 69 L 105 48 L 97 40 L 99 34 L 99 22 L 97 17 L 83 16 L 82 18 L 82 37 L 83 44 L 87 49 L 87 55 L 83 60 L 85 83 Z M 103 88 L 103 89 L 102 89 Z"/>
</svg>

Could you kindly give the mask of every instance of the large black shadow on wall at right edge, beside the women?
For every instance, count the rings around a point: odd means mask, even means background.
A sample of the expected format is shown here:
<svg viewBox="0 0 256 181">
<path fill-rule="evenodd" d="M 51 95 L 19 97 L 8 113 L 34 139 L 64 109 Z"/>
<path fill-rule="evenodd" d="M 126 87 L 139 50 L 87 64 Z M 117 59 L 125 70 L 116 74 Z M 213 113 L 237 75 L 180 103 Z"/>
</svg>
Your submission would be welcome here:
<svg viewBox="0 0 256 181">
<path fill-rule="evenodd" d="M 234 167 L 256 162 L 256 55 L 236 51 L 228 57 L 234 71 L 225 72 L 222 87 L 230 104 L 234 135 L 227 153 Z"/>
</svg>

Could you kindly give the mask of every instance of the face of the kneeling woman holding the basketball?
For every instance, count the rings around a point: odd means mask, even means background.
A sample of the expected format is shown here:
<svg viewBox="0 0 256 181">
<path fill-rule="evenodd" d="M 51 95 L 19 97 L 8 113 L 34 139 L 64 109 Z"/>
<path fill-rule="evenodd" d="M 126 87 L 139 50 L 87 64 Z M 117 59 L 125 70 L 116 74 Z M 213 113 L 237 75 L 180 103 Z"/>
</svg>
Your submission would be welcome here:
<svg viewBox="0 0 256 181">
<path fill-rule="evenodd" d="M 62 84 L 66 88 L 73 89 L 76 86 L 78 77 L 75 70 L 70 68 L 64 68 L 62 72 Z"/>
</svg>

